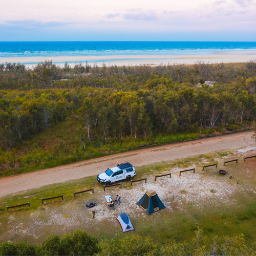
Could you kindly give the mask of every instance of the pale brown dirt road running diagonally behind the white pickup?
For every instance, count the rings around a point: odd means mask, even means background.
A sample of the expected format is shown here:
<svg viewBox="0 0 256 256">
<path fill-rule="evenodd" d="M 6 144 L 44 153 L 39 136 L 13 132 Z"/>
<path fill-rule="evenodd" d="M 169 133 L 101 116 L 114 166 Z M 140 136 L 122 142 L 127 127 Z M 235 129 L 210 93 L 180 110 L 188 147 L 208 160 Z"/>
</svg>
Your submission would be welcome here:
<svg viewBox="0 0 256 256">
<path fill-rule="evenodd" d="M 135 166 L 170 161 L 245 146 L 255 146 L 252 132 L 229 134 L 200 140 L 156 146 L 105 156 L 74 164 L 39 170 L 34 173 L 20 174 L 0 179 L 0 197 L 40 186 L 65 182 L 87 176 L 97 175 L 108 167 L 121 162 L 131 162 Z"/>
</svg>

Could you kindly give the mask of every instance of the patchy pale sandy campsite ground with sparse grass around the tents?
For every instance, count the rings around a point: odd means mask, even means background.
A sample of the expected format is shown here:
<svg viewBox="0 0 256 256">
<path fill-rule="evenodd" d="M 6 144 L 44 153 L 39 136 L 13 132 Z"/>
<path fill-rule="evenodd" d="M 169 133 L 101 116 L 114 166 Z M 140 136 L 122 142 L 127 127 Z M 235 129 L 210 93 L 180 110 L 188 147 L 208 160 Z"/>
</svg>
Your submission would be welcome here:
<svg viewBox="0 0 256 256">
<path fill-rule="evenodd" d="M 183 219 L 181 218 L 183 222 L 195 219 L 195 222 L 200 223 L 209 212 L 217 211 L 225 214 L 227 209 L 236 208 L 242 198 L 244 201 L 256 198 L 254 186 L 256 176 L 253 172 L 255 159 L 243 162 L 245 154 L 255 155 L 255 153 L 255 147 L 247 146 L 237 151 L 230 150 L 227 153 L 209 155 L 206 158 L 180 160 L 170 163 L 169 167 L 159 167 L 158 164 L 156 169 L 154 165 L 148 166 L 150 169 L 143 174 L 147 177 L 147 183 L 142 181 L 131 186 L 130 182 L 123 182 L 122 189 L 115 186 L 106 188 L 106 191 L 103 191 L 102 185 L 99 184 L 96 185 L 94 194 L 81 194 L 75 199 L 67 198 L 68 195 L 66 195 L 67 199 L 63 201 L 48 202 L 29 212 L 13 210 L 6 217 L 8 224 L 2 223 L 6 232 L 0 236 L 0 240 L 5 240 L 8 236 L 12 240 L 26 238 L 37 243 L 38 239 L 45 238 L 52 232 L 61 234 L 77 228 L 85 229 L 96 236 L 109 237 L 114 234 L 120 237 L 122 231 L 116 218 L 121 212 L 129 216 L 135 232 L 147 232 L 144 229 L 148 225 L 150 229 L 146 230 L 168 229 L 169 219 L 177 214 L 183 216 Z M 223 167 L 223 161 L 233 158 L 239 158 L 239 163 L 231 163 Z M 213 162 L 219 162 L 218 168 L 209 167 L 202 172 L 202 164 Z M 168 165 L 166 164 L 164 166 Z M 179 177 L 179 170 L 188 167 L 195 167 L 195 174 L 187 172 Z M 222 168 L 227 171 L 227 175 L 218 174 L 219 169 Z M 169 172 L 172 172 L 172 178 L 165 176 L 155 181 L 155 175 Z M 228 178 L 229 174 L 233 176 L 231 180 Z M 240 180 L 239 185 L 237 185 L 237 179 Z M 136 205 L 148 189 L 155 190 L 166 207 L 150 216 Z M 110 211 L 106 205 L 105 196 L 110 195 L 114 198 L 117 194 L 121 196 L 121 204 L 117 204 L 115 210 Z M 36 194 L 32 193 L 25 197 L 29 200 L 31 197 L 36 197 Z M 87 208 L 86 203 L 91 200 L 96 202 L 97 206 Z M 92 216 L 92 209 L 95 210 L 95 219 Z M 223 220 L 223 223 L 224 221 L 229 225 L 228 223 L 232 220 Z M 111 226 L 111 229 L 108 226 Z"/>
</svg>

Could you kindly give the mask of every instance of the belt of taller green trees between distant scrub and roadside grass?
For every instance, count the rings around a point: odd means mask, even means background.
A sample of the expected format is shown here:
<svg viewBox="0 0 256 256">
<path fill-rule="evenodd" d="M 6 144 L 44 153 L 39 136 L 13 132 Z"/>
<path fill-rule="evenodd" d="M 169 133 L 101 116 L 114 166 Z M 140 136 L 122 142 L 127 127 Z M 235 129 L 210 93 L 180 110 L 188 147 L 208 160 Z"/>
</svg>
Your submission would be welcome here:
<svg viewBox="0 0 256 256">
<path fill-rule="evenodd" d="M 5 149 L 69 118 L 80 143 L 95 138 L 147 138 L 159 133 L 204 131 L 246 124 L 256 117 L 256 78 L 214 86 L 150 73 L 143 85 L 131 75 L 121 88 L 80 87 L 0 91 L 0 144 Z"/>
</svg>

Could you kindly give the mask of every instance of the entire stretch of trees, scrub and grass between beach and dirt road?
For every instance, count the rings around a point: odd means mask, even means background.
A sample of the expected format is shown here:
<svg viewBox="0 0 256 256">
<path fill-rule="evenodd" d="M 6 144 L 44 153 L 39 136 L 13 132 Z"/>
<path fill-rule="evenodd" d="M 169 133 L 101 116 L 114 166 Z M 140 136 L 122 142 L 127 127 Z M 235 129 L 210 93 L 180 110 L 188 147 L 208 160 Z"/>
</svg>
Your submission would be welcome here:
<svg viewBox="0 0 256 256">
<path fill-rule="evenodd" d="M 249 129 L 256 117 L 255 75 L 255 60 L 1 65 L 0 176 Z"/>
</svg>

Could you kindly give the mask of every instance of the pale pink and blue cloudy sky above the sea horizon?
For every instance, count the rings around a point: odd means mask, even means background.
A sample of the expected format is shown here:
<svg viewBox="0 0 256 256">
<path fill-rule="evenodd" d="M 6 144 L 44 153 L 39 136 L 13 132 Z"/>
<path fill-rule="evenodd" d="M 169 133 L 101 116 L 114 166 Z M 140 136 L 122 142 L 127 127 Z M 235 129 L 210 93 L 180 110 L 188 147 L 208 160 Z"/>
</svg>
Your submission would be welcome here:
<svg viewBox="0 0 256 256">
<path fill-rule="evenodd" d="M 256 41 L 256 0 L 1 1 L 0 41 Z"/>
</svg>

